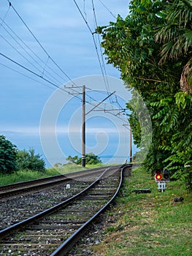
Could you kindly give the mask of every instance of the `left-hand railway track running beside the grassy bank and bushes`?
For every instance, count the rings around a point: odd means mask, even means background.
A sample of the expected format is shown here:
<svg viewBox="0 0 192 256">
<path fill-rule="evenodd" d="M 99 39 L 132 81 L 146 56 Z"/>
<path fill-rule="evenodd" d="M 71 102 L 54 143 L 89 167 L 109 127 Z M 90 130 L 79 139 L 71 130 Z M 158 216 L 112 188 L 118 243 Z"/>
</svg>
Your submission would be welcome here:
<svg viewBox="0 0 192 256">
<path fill-rule="evenodd" d="M 38 178 L 33 181 L 23 181 L 15 184 L 0 186 L 0 200 L 5 197 L 12 197 L 15 195 L 23 195 L 23 193 L 39 191 L 39 189 L 54 187 L 69 181 L 72 178 L 85 178 L 88 176 L 97 175 L 104 170 L 105 167 L 97 167 L 88 170 L 82 170 L 74 173 L 66 173 L 65 175 L 57 175 L 45 178 Z"/>
</svg>

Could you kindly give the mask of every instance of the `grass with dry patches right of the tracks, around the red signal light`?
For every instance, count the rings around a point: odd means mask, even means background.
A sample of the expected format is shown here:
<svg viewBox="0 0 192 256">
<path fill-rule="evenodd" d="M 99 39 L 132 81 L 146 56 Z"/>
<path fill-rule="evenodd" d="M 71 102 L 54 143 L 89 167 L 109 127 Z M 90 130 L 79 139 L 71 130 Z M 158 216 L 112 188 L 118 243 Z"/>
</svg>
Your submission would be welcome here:
<svg viewBox="0 0 192 256">
<path fill-rule="evenodd" d="M 116 221 L 106 227 L 101 244 L 93 246 L 93 255 L 192 255 L 192 195 L 179 181 L 167 183 L 165 192 L 157 187 L 143 170 L 132 171 L 115 208 L 107 213 Z M 141 188 L 152 192 L 132 192 Z M 184 197 L 184 202 L 173 203 L 174 197 Z"/>
</svg>

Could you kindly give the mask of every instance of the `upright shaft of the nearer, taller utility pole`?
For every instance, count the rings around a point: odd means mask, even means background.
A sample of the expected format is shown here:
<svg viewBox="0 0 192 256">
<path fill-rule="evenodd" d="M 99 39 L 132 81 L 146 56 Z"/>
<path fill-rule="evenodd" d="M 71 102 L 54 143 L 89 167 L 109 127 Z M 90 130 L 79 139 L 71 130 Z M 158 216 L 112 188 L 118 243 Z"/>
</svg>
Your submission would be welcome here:
<svg viewBox="0 0 192 256">
<path fill-rule="evenodd" d="M 85 86 L 82 86 L 82 167 L 85 167 Z"/>
</svg>

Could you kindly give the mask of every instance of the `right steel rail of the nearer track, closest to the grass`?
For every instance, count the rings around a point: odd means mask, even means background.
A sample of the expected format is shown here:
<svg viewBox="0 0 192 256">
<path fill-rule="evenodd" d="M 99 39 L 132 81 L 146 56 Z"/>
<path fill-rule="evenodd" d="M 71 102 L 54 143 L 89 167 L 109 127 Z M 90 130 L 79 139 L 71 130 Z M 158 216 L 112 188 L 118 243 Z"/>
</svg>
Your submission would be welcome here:
<svg viewBox="0 0 192 256">
<path fill-rule="evenodd" d="M 61 244 L 61 246 L 59 246 L 58 249 L 56 249 L 55 252 L 53 252 L 50 256 L 64 256 L 67 252 L 69 252 L 69 249 L 74 245 L 74 243 L 76 241 L 78 241 L 78 238 L 80 238 L 80 235 L 85 232 L 88 225 L 90 225 L 91 222 L 93 222 L 96 219 L 96 217 L 99 216 L 99 214 L 104 212 L 106 210 L 106 208 L 110 205 L 110 203 L 112 203 L 112 201 L 115 200 L 115 197 L 118 195 L 118 192 L 119 192 L 120 187 L 122 185 L 123 170 L 128 166 L 131 167 L 132 165 L 124 165 L 124 166 L 121 167 L 121 169 L 120 169 L 120 182 L 119 182 L 119 185 L 118 185 L 118 189 L 116 190 L 116 192 L 112 196 L 112 198 L 99 211 L 97 211 L 96 214 L 94 214 L 93 217 L 91 217 L 91 219 L 88 219 L 87 222 L 85 222 L 78 230 L 76 230 L 72 234 L 72 236 L 69 236 L 69 238 L 67 238 L 66 241 L 64 241 L 64 243 Z"/>
</svg>

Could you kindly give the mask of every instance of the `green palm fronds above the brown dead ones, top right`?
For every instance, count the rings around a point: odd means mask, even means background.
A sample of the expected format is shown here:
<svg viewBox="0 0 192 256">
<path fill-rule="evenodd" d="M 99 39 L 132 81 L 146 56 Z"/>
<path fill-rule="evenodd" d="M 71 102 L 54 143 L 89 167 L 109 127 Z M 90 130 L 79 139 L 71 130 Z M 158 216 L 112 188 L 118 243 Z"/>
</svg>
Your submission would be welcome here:
<svg viewBox="0 0 192 256">
<path fill-rule="evenodd" d="M 192 45 L 191 20 L 191 1 L 175 0 L 167 4 L 165 23 L 156 34 L 156 39 L 164 42 L 161 61 L 188 55 Z"/>
</svg>

